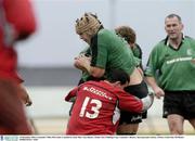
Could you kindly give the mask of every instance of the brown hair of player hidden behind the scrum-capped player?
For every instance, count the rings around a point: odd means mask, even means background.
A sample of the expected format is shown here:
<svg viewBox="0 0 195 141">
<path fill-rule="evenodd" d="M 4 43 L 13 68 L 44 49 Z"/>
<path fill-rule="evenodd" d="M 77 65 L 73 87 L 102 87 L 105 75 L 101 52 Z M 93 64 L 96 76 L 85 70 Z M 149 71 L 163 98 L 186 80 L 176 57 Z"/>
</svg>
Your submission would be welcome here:
<svg viewBox="0 0 195 141">
<path fill-rule="evenodd" d="M 135 31 L 129 26 L 120 26 L 115 29 L 116 34 L 125 38 L 130 43 L 135 43 L 136 35 Z"/>
</svg>

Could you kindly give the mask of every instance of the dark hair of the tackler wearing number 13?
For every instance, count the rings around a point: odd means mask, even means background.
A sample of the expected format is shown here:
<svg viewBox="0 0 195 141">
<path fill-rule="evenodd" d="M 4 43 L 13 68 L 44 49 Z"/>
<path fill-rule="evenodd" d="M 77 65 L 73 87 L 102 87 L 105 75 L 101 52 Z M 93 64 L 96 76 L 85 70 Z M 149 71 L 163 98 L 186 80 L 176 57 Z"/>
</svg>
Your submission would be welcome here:
<svg viewBox="0 0 195 141">
<path fill-rule="evenodd" d="M 130 77 L 129 75 L 122 70 L 122 69 L 113 69 L 110 70 L 110 75 L 109 77 L 107 78 L 107 80 L 109 82 L 116 82 L 116 81 L 120 81 L 121 85 L 125 85 L 125 84 L 129 84 L 130 82 Z"/>
</svg>

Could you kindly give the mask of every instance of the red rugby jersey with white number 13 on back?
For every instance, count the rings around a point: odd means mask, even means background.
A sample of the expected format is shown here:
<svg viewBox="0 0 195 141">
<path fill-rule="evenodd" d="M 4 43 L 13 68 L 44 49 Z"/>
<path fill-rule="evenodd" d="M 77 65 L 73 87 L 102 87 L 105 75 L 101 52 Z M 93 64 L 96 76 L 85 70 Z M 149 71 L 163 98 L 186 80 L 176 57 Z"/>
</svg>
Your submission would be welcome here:
<svg viewBox="0 0 195 141">
<path fill-rule="evenodd" d="M 140 113 L 141 100 L 105 81 L 88 81 L 72 90 L 65 98 L 77 97 L 66 134 L 114 134 L 120 111 Z"/>
</svg>

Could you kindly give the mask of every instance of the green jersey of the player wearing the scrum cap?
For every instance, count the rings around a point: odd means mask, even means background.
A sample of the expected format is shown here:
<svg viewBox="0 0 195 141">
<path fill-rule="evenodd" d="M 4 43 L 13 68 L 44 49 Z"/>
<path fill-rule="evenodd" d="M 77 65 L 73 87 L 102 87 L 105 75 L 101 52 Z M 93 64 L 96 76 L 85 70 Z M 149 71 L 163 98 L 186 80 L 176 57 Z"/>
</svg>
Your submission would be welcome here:
<svg viewBox="0 0 195 141">
<path fill-rule="evenodd" d="M 92 61 L 91 66 L 105 69 L 105 75 L 120 68 L 129 75 L 135 68 L 135 61 L 129 44 L 125 39 L 117 36 L 115 31 L 101 29 L 91 39 Z"/>
</svg>

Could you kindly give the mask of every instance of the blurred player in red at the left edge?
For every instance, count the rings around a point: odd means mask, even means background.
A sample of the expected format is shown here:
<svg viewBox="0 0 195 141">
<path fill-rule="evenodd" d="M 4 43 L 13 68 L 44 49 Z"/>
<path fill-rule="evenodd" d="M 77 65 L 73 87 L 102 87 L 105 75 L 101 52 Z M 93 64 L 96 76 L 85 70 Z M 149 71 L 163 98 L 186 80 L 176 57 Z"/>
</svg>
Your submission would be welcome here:
<svg viewBox="0 0 195 141">
<path fill-rule="evenodd" d="M 35 30 L 29 0 L 0 0 L 0 134 L 31 133 L 24 110 L 31 101 L 17 75 L 15 43 Z"/>
</svg>

